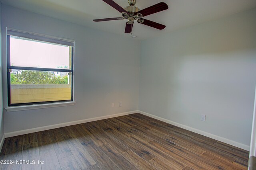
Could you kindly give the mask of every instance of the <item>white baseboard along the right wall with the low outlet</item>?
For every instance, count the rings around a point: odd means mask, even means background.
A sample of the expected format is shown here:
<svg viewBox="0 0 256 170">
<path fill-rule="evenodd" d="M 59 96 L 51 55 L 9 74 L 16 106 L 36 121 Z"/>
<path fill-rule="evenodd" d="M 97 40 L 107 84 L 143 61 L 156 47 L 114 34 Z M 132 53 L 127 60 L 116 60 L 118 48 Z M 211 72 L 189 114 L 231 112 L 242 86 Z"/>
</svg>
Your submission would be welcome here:
<svg viewBox="0 0 256 170">
<path fill-rule="evenodd" d="M 208 132 L 205 132 L 205 131 L 201 131 L 201 130 L 199 130 L 199 129 L 195 129 L 195 128 L 193 128 L 193 127 L 189 127 L 189 126 L 186 126 L 186 125 L 182 125 L 182 124 L 180 124 L 180 123 L 177 123 L 177 122 L 174 122 L 174 121 L 170 121 L 170 120 L 168 120 L 168 119 L 164 119 L 164 118 L 162 118 L 162 117 L 158 117 L 158 116 L 152 115 L 152 114 L 150 114 L 150 113 L 146 113 L 146 112 L 144 112 L 144 111 L 140 111 L 140 110 L 139 110 L 138 113 L 141 113 L 141 114 L 143 114 L 143 115 L 152 117 L 152 118 L 154 118 L 154 119 L 158 119 L 158 120 L 160 120 L 160 121 L 164 121 L 164 122 L 166 122 L 166 123 L 170 123 L 170 124 L 172 124 L 172 125 L 181 127 L 181 128 L 186 129 L 186 130 L 188 130 L 188 131 L 192 131 L 192 132 L 198 133 L 198 134 L 200 134 L 200 135 L 204 135 L 204 136 L 206 136 L 206 137 L 210 137 L 210 138 L 215 139 L 215 140 L 217 140 L 217 141 L 221 141 L 221 142 L 227 143 L 227 144 L 229 144 L 229 145 L 232 145 L 232 146 L 235 146 L 235 147 L 244 149 L 244 150 L 248 150 L 248 151 L 250 150 L 250 146 L 244 145 L 244 144 L 242 144 L 242 143 L 238 143 L 238 142 L 236 142 L 236 141 L 232 141 L 232 140 L 230 140 L 230 139 L 226 139 L 226 138 L 224 138 L 224 137 L 220 137 L 220 136 L 217 136 L 217 135 L 213 135 L 213 134 L 211 134 L 211 133 L 208 133 Z"/>
</svg>

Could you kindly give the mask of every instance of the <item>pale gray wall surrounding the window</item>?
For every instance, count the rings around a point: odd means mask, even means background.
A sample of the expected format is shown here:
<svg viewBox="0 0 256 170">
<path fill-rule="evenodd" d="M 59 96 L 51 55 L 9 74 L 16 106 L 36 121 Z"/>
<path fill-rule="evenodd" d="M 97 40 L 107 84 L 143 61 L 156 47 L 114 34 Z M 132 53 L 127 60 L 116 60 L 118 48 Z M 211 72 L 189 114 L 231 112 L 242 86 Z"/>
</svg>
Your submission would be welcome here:
<svg viewBox="0 0 256 170">
<path fill-rule="evenodd" d="M 75 106 L 4 110 L 5 133 L 138 110 L 140 41 L 2 5 L 6 27 L 75 40 Z M 6 32 L 2 32 L 6 42 Z M 128 47 L 128 48 L 127 48 Z M 6 44 L 2 48 L 6 70 Z M 129 51 L 127 49 L 133 49 Z M 7 107 L 6 71 L 3 72 Z M 118 103 L 122 101 L 122 107 Z M 111 107 L 111 103 L 115 107 Z"/>
</svg>

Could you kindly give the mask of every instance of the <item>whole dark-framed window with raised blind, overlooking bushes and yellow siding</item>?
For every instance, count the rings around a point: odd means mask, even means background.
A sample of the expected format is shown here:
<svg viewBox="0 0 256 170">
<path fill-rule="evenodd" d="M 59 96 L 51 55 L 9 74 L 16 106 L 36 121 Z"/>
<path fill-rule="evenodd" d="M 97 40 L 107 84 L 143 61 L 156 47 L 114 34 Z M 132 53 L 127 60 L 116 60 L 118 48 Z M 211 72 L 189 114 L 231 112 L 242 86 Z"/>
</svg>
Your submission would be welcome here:
<svg viewBox="0 0 256 170">
<path fill-rule="evenodd" d="M 7 30 L 8 106 L 73 101 L 74 41 Z"/>
</svg>

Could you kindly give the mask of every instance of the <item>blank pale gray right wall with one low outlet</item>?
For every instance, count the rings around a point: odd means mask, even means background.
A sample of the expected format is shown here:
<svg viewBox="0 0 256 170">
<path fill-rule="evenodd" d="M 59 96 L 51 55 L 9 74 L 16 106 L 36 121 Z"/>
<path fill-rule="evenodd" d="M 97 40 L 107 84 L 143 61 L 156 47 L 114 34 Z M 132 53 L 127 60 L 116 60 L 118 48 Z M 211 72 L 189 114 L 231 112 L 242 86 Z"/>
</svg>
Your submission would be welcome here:
<svg viewBox="0 0 256 170">
<path fill-rule="evenodd" d="M 139 110 L 249 146 L 255 18 L 253 9 L 142 41 Z"/>
</svg>

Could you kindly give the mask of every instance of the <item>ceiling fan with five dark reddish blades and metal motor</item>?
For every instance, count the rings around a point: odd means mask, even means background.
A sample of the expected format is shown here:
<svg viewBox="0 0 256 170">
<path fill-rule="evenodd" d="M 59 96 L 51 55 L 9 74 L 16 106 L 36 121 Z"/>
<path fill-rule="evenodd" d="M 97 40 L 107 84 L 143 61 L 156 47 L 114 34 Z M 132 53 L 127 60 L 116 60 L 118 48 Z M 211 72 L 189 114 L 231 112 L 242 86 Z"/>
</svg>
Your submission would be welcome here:
<svg viewBox="0 0 256 170">
<path fill-rule="evenodd" d="M 138 23 L 142 23 L 144 25 L 148 25 L 148 26 L 154 27 L 156 29 L 164 29 L 166 27 L 165 25 L 162 25 L 160 23 L 156 23 L 156 22 L 142 18 L 142 17 L 148 16 L 148 15 L 151 15 L 151 14 L 163 11 L 163 10 L 167 10 L 168 5 L 164 2 L 160 2 L 158 4 L 150 6 L 143 10 L 140 10 L 140 8 L 134 6 L 136 4 L 136 0 L 128 0 L 129 6 L 126 6 L 125 8 L 122 8 L 121 6 L 116 4 L 116 2 L 114 2 L 113 0 L 103 0 L 103 1 L 106 2 L 107 4 L 109 4 L 110 6 L 112 6 L 113 8 L 115 8 L 116 10 L 118 10 L 119 12 L 121 12 L 122 17 L 93 20 L 95 22 L 126 19 L 126 20 L 128 20 L 128 22 L 126 22 L 126 27 L 125 27 L 125 31 L 124 31 L 125 33 L 132 32 L 134 20 L 138 21 Z"/>
</svg>

